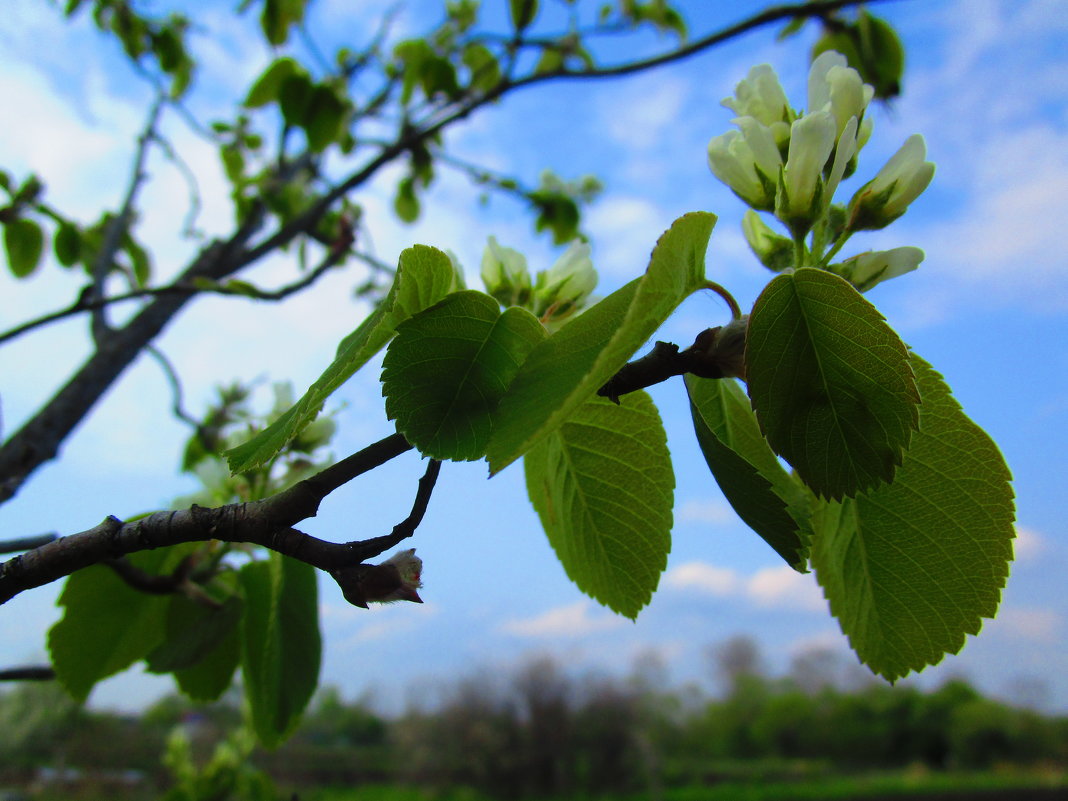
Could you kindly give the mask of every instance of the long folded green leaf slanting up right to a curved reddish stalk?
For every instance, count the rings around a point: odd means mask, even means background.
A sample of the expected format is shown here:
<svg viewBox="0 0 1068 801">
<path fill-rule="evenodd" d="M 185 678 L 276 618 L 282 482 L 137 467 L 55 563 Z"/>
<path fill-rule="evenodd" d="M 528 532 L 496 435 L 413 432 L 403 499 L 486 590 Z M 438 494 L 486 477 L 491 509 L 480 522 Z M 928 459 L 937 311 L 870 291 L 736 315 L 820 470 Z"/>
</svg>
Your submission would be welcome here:
<svg viewBox="0 0 1068 801">
<path fill-rule="evenodd" d="M 501 400 L 487 456 L 498 473 L 560 427 L 627 363 L 680 302 L 705 283 L 716 216 L 676 220 L 645 274 L 609 295 L 537 345 Z"/>
</svg>

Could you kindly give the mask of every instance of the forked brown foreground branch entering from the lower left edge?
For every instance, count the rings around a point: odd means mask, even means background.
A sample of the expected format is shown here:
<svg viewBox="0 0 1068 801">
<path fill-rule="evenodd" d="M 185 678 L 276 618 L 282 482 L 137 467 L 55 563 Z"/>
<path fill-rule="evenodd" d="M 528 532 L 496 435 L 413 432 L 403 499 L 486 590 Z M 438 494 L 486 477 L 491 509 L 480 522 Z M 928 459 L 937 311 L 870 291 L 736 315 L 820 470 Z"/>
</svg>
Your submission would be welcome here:
<svg viewBox="0 0 1068 801">
<path fill-rule="evenodd" d="M 175 582 L 173 576 L 146 578 L 145 575 L 135 575 L 120 557 L 137 551 L 210 539 L 261 545 L 327 571 L 354 567 L 391 547 L 386 538 L 327 543 L 293 525 L 314 517 L 323 499 L 340 486 L 410 449 L 402 435 L 391 435 L 262 501 L 231 503 L 214 508 L 193 505 L 187 509 L 157 512 L 128 523 L 108 517 L 92 529 L 60 537 L 0 564 L 0 603 L 26 590 L 101 562 L 109 564 L 138 588 L 174 592 L 180 581 Z M 427 472 L 429 474 L 430 470 Z M 412 514 L 394 528 L 394 534 L 389 538 L 399 541 L 403 537 L 397 537 L 398 529 L 407 532 L 403 536 L 409 536 L 414 531 L 426 508 L 430 489 L 433 478 L 424 476 Z M 150 584 L 152 588 L 147 590 Z"/>
</svg>

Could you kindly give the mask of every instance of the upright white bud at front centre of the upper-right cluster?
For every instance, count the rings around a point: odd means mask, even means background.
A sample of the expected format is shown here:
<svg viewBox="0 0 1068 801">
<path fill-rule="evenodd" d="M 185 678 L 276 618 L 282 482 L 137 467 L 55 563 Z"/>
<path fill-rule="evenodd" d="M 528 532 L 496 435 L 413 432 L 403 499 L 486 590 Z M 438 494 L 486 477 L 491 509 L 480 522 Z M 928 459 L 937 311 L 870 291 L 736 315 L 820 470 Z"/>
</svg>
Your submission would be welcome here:
<svg viewBox="0 0 1068 801">
<path fill-rule="evenodd" d="M 790 150 L 783 191 L 775 200 L 775 217 L 795 235 L 806 232 L 821 210 L 820 176 L 834 150 L 835 132 L 830 111 L 812 111 L 790 126 Z"/>
</svg>

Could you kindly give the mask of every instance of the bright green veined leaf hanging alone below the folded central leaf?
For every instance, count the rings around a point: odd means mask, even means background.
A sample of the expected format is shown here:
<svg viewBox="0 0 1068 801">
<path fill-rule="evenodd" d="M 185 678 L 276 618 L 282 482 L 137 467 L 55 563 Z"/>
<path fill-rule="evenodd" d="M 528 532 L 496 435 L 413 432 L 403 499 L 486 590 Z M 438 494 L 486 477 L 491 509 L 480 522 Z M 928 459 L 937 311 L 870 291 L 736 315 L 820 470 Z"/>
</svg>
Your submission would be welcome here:
<svg viewBox="0 0 1068 801">
<path fill-rule="evenodd" d="M 593 397 L 523 457 L 527 491 L 579 588 L 633 619 L 668 564 L 675 476 L 644 392 Z"/>
</svg>

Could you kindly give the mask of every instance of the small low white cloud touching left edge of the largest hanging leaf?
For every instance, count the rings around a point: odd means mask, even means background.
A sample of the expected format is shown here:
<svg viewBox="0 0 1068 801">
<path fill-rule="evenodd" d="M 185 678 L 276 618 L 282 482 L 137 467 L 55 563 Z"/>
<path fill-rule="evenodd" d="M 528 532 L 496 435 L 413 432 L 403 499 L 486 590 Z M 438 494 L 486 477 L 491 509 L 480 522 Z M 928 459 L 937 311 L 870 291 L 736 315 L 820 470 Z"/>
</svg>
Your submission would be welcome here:
<svg viewBox="0 0 1068 801">
<path fill-rule="evenodd" d="M 741 597 L 757 607 L 775 609 L 827 609 L 822 592 L 812 574 L 799 574 L 786 565 L 764 567 L 745 576 L 705 562 L 688 562 L 668 571 L 664 586 L 717 597 Z"/>
</svg>

